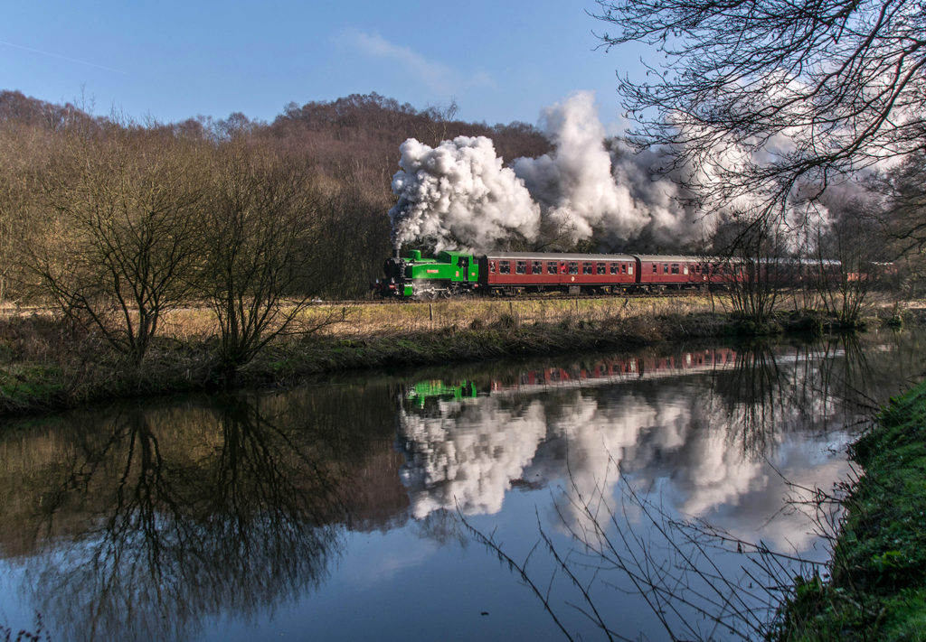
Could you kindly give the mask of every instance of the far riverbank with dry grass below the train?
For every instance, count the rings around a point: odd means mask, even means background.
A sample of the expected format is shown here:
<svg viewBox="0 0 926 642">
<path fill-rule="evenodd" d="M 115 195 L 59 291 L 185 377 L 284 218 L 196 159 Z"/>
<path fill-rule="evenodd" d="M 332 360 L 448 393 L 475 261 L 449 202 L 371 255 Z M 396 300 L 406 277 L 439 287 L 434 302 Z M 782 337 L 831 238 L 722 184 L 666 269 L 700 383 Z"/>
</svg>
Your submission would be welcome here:
<svg viewBox="0 0 926 642">
<path fill-rule="evenodd" d="M 820 333 L 832 326 L 825 316 L 804 311 L 782 312 L 769 327 L 757 328 L 734 315 L 712 312 L 707 301 L 694 298 L 632 304 L 567 300 L 539 309 L 524 302 L 499 302 L 491 310 L 484 305 L 367 306 L 375 310 L 358 311 L 352 323 L 334 331 L 271 343 L 236 373 L 233 385 L 288 387 L 325 373 L 370 367 L 632 349 L 667 340 L 763 332 Z M 386 326 L 384 320 L 401 315 L 407 315 L 402 319 L 407 329 Z M 0 415 L 219 389 L 228 381 L 216 362 L 215 344 L 207 331 L 175 331 L 156 340 L 143 363 L 135 364 L 51 316 L 6 318 L 0 324 Z"/>
</svg>

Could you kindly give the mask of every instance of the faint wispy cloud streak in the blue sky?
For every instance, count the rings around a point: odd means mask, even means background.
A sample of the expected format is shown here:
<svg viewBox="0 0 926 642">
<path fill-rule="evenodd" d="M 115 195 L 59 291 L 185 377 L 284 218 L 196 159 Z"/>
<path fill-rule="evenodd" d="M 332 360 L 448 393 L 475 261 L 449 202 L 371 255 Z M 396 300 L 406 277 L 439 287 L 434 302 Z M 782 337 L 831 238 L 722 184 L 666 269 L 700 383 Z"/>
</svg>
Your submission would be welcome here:
<svg viewBox="0 0 926 642">
<path fill-rule="evenodd" d="M 454 69 L 421 56 L 411 47 L 390 43 L 376 33 L 349 29 L 342 32 L 339 41 L 367 56 L 400 65 L 437 93 L 451 95 L 470 86 L 495 86 L 492 77 L 484 71 L 476 72 L 469 78 L 463 77 Z"/>
</svg>

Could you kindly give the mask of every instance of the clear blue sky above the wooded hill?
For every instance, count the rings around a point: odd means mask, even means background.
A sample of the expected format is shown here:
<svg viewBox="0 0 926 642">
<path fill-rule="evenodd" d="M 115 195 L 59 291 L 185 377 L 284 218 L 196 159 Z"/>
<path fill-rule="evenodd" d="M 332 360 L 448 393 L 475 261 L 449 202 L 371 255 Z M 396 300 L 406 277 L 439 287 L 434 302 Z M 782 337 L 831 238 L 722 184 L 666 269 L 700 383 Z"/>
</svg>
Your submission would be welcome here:
<svg viewBox="0 0 926 642">
<path fill-rule="evenodd" d="M 0 89 L 94 113 L 177 121 L 376 92 L 489 124 L 536 123 L 570 93 L 596 93 L 619 127 L 615 72 L 642 49 L 595 51 L 594 0 L 6 3 Z"/>
</svg>

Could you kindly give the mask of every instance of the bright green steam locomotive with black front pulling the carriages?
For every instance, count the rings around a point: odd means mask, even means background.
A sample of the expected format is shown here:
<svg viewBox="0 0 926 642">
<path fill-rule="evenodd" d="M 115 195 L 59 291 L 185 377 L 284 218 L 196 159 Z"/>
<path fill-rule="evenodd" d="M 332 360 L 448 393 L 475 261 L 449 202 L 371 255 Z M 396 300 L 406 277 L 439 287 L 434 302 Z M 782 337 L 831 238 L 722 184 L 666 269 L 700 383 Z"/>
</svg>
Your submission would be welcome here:
<svg viewBox="0 0 926 642">
<path fill-rule="evenodd" d="M 386 278 L 374 289 L 385 297 L 436 299 L 480 287 L 479 261 L 468 253 L 443 251 L 434 258 L 422 258 L 419 250 L 405 257 L 396 250 L 383 269 Z"/>
</svg>

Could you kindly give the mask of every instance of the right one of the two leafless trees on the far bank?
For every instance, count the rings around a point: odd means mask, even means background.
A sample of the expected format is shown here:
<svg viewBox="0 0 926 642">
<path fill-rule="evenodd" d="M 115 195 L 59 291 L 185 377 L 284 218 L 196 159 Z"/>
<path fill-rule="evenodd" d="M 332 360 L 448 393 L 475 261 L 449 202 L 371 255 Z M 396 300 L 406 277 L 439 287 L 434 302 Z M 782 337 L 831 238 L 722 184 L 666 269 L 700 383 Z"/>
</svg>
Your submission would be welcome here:
<svg viewBox="0 0 926 642">
<path fill-rule="evenodd" d="M 219 320 L 219 367 L 231 380 L 271 340 L 344 319 L 307 321 L 305 293 L 321 200 L 307 167 L 232 141 L 217 154 L 203 223 L 200 289 Z"/>
</svg>

